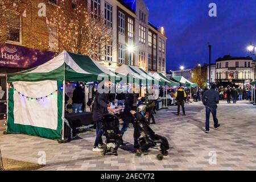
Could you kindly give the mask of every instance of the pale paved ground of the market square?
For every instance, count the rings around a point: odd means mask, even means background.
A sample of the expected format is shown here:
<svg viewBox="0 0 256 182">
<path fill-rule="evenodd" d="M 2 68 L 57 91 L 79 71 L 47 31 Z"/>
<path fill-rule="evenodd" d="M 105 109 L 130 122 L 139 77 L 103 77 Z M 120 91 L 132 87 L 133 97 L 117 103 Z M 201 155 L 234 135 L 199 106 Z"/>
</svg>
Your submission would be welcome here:
<svg viewBox="0 0 256 182">
<path fill-rule="evenodd" d="M 155 115 L 157 125 L 151 125 L 152 129 L 167 137 L 173 147 L 162 161 L 154 150 L 141 157 L 121 149 L 119 156 L 92 152 L 95 133 L 65 144 L 28 135 L 0 135 L 0 147 L 5 158 L 34 163 L 45 152 L 47 165 L 40 170 L 256 170 L 255 106 L 247 101 L 222 102 L 217 110 L 221 127 L 213 130 L 211 120 L 209 134 L 204 133 L 204 106 L 195 103 L 185 109 L 185 117 L 175 115 L 176 106 Z M 123 139 L 133 143 L 133 129 Z M 212 164 L 214 156 L 216 164 Z"/>
</svg>

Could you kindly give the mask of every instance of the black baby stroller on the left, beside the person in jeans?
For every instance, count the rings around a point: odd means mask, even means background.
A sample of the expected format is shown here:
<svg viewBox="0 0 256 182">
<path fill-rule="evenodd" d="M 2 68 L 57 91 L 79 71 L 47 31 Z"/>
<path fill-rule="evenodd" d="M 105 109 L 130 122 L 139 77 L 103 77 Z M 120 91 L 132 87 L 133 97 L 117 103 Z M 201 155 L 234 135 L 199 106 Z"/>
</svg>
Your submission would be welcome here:
<svg viewBox="0 0 256 182">
<path fill-rule="evenodd" d="M 105 114 L 102 117 L 102 122 L 104 136 L 106 137 L 106 148 L 104 148 L 103 154 L 118 155 L 118 148 L 123 143 L 118 117 L 114 114 Z"/>
</svg>

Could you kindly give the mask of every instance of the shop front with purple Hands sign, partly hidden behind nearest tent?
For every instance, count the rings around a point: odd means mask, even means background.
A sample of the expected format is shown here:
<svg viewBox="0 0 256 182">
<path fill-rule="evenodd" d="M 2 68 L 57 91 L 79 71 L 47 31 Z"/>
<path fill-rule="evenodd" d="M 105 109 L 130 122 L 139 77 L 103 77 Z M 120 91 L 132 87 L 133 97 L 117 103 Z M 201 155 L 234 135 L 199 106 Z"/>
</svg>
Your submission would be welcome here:
<svg viewBox="0 0 256 182">
<path fill-rule="evenodd" d="M 6 119 L 6 75 L 44 64 L 53 56 L 50 51 L 0 44 L 0 119 Z"/>
</svg>

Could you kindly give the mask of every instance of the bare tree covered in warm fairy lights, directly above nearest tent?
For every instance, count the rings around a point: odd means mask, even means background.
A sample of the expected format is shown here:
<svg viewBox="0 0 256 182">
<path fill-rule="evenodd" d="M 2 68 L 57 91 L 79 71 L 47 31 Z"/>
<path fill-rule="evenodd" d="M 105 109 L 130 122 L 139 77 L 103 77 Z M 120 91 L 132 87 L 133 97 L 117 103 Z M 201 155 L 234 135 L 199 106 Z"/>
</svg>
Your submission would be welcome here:
<svg viewBox="0 0 256 182">
<path fill-rule="evenodd" d="M 57 28 L 57 34 L 51 35 L 55 36 L 57 41 L 53 42 L 59 44 L 60 52 L 67 50 L 98 60 L 113 40 L 113 31 L 105 24 L 103 15 L 88 7 L 82 0 L 73 1 L 72 6 L 61 0 L 48 26 L 52 32 L 52 28 Z"/>
</svg>

